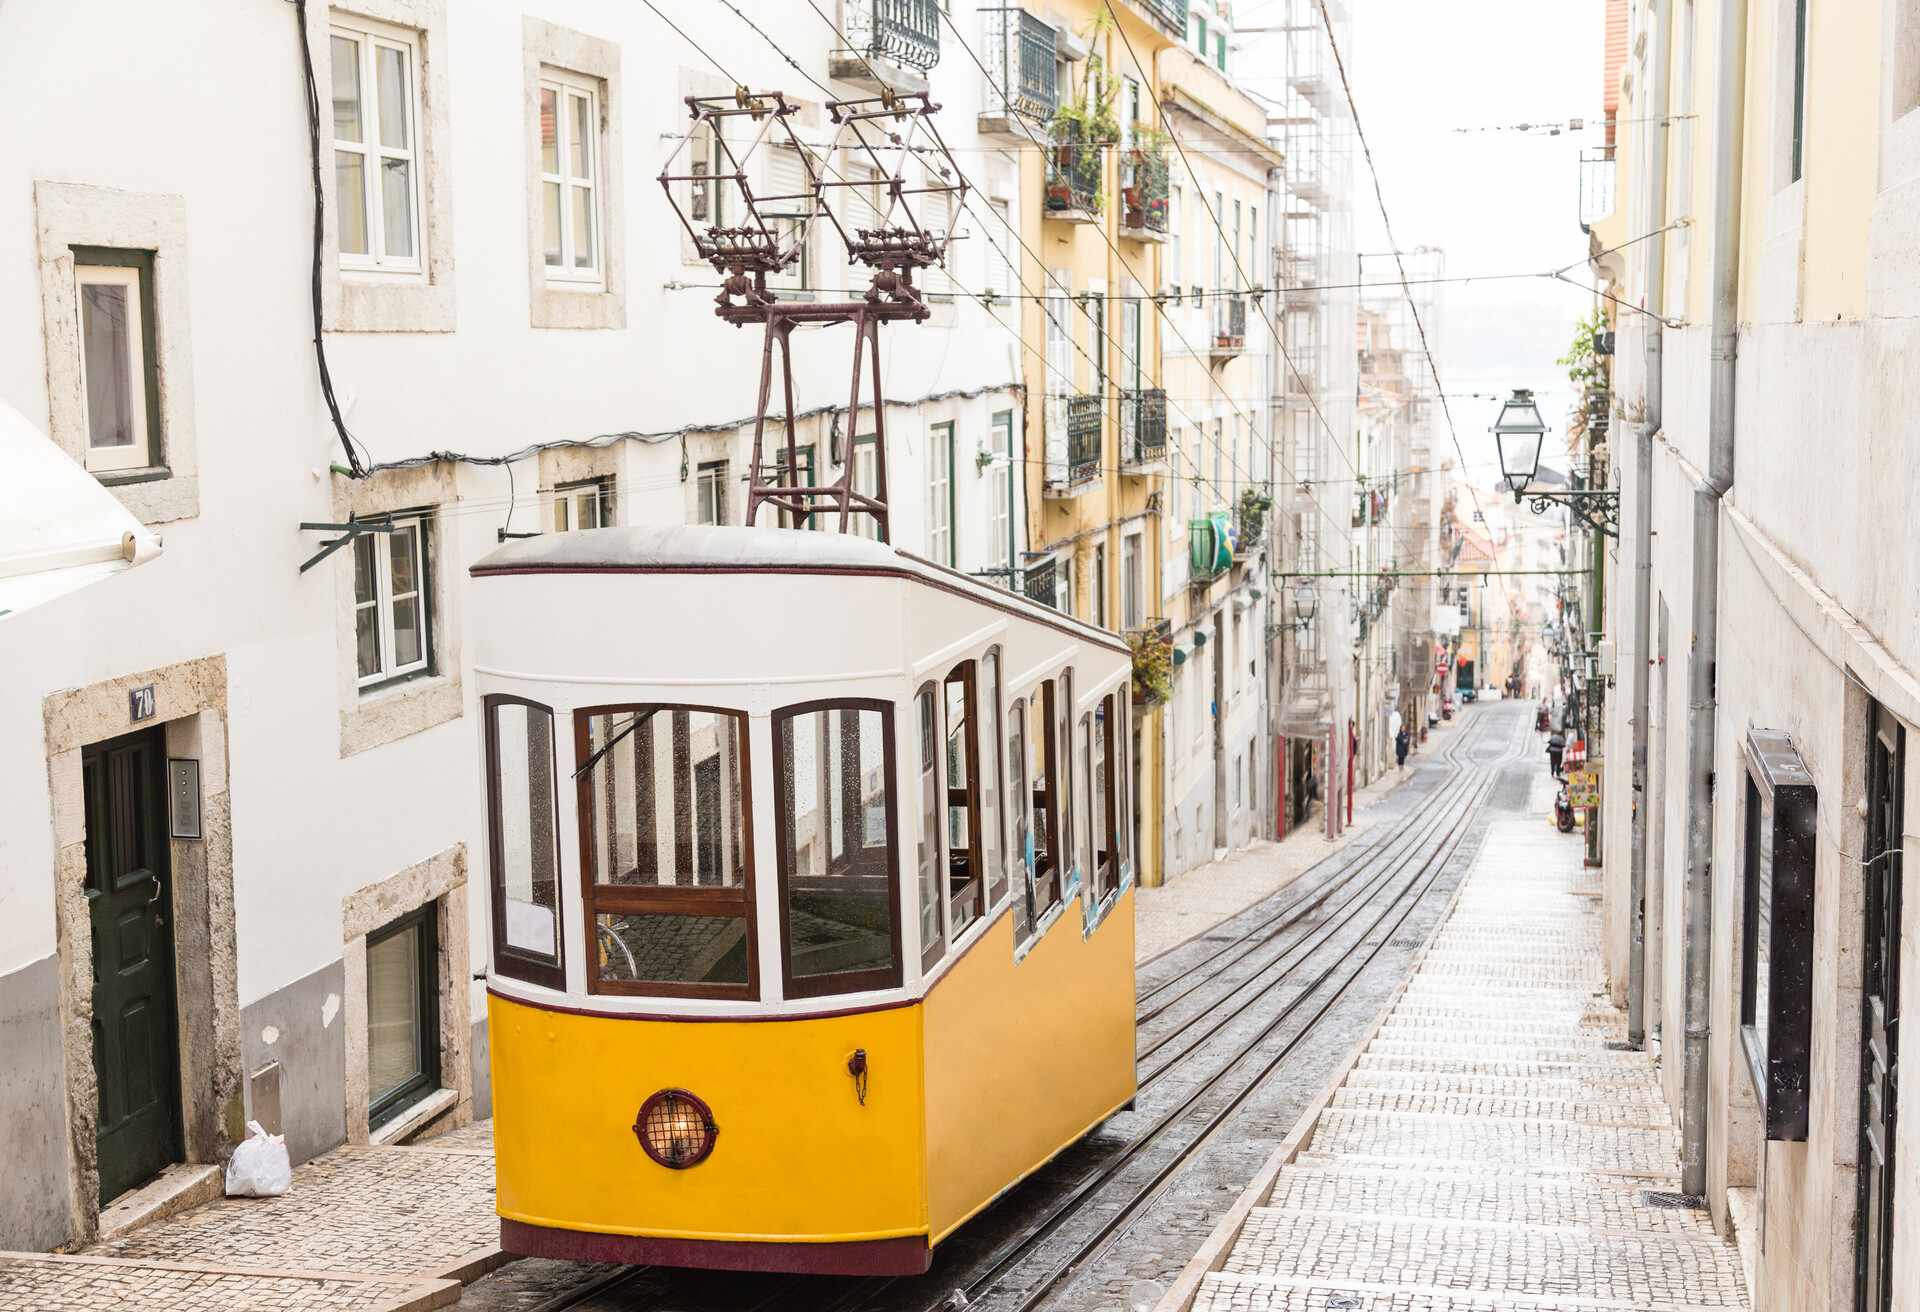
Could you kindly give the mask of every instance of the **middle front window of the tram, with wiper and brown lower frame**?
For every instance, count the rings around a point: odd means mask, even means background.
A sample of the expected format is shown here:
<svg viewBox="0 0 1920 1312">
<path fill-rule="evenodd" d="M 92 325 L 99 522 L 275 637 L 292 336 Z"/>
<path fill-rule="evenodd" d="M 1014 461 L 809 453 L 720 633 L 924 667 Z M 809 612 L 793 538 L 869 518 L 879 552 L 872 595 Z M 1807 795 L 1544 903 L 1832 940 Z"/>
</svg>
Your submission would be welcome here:
<svg viewBox="0 0 1920 1312">
<path fill-rule="evenodd" d="M 747 717 L 593 707 L 574 745 L 588 989 L 756 997 Z"/>
</svg>

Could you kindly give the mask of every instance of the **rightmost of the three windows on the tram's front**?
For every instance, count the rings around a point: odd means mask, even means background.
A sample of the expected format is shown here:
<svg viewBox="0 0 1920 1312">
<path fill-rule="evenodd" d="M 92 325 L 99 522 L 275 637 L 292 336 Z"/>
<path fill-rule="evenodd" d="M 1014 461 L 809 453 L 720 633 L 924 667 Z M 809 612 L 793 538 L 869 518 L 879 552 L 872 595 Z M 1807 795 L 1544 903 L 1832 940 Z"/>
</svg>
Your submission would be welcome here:
<svg viewBox="0 0 1920 1312">
<path fill-rule="evenodd" d="M 774 715 L 780 934 L 787 997 L 900 984 L 893 707 L 829 701 Z"/>
</svg>

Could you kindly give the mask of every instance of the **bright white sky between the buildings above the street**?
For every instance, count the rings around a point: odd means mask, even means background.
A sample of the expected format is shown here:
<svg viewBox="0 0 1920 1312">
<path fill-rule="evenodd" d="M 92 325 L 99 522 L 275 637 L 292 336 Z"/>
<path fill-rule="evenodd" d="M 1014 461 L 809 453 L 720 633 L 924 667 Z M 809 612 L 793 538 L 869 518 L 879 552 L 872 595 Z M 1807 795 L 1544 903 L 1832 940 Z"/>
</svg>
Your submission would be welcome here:
<svg viewBox="0 0 1920 1312">
<path fill-rule="evenodd" d="M 1361 127 L 1402 250 L 1440 246 L 1446 273 L 1540 273 L 1586 259 L 1580 231 L 1580 150 L 1601 144 L 1603 0 L 1346 0 L 1348 71 Z M 1260 13 L 1273 6 L 1244 4 Z M 1586 119 L 1561 136 L 1453 129 Z M 1354 165 L 1356 238 L 1386 252 L 1365 163 Z M 1390 269 L 1367 261 L 1367 277 Z M 1586 267 L 1572 269 L 1586 279 Z M 1532 386 L 1549 425 L 1546 453 L 1572 390 L 1553 363 L 1594 298 L 1549 280 L 1448 284 L 1440 294 L 1436 355 L 1450 394 Z M 1428 327 L 1434 332 L 1434 327 Z M 1469 461 L 1494 457 L 1494 400 L 1452 396 Z M 1563 461 L 1555 461 L 1563 463 Z M 1488 480 L 1492 474 L 1488 474 Z"/>
</svg>

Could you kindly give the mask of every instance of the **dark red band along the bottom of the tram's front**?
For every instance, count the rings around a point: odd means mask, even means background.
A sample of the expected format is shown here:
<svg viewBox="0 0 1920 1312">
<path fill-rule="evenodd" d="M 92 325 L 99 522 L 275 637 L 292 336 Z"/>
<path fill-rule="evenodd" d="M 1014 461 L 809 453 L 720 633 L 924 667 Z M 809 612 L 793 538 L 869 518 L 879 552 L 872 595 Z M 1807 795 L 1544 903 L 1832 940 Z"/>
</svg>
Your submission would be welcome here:
<svg viewBox="0 0 1920 1312">
<path fill-rule="evenodd" d="M 622 1266 L 697 1266 L 710 1272 L 785 1272 L 801 1276 L 922 1276 L 933 1264 L 925 1235 L 852 1243 L 751 1243 L 735 1239 L 651 1239 L 599 1235 L 499 1220 L 499 1247 L 528 1258 L 616 1262 Z"/>
</svg>

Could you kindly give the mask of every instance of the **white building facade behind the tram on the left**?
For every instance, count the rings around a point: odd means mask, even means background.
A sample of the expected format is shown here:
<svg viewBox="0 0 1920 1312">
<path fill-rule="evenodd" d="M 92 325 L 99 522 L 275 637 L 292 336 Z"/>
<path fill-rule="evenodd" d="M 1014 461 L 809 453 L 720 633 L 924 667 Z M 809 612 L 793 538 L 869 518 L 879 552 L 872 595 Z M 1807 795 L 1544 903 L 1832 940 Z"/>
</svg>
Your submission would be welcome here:
<svg viewBox="0 0 1920 1312">
<path fill-rule="evenodd" d="M 931 85 L 973 190 L 922 215 L 960 238 L 931 319 L 881 334 L 893 540 L 970 572 L 1025 547 L 1018 311 L 975 300 L 1012 284 L 1020 173 L 975 133 L 973 6 L 889 31 L 893 60 L 856 0 L 828 6 L 851 36 L 799 6 L 764 33 L 676 6 L 685 36 L 536 8 L 0 13 L 35 104 L 0 138 L 0 236 L 31 255 L 0 269 L 0 396 L 165 542 L 0 622 L 0 1247 L 92 1237 L 250 1116 L 301 1160 L 486 1110 L 465 571 L 513 534 L 743 511 L 762 340 L 712 317 L 655 182 L 685 96 L 778 86 L 826 148 L 829 94 Z M 219 85 L 173 75 L 209 58 Z M 747 169 L 768 194 L 797 163 Z M 864 290 L 835 240 L 780 292 Z M 868 476 L 872 413 L 831 409 L 849 367 L 845 330 L 799 338 L 822 482 Z M 305 526 L 349 521 L 378 522 Z"/>
</svg>

